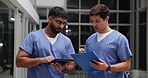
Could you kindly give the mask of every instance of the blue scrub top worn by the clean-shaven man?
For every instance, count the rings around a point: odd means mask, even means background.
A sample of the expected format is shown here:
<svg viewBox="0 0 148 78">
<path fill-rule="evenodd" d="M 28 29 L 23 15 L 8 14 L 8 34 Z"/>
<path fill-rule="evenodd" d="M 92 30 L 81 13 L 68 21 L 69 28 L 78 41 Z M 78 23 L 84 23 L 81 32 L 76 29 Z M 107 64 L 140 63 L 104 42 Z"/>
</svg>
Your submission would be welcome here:
<svg viewBox="0 0 148 78">
<path fill-rule="evenodd" d="M 97 34 L 92 34 L 86 41 L 85 51 L 95 51 L 97 56 L 108 65 L 113 65 L 126 60 L 132 56 L 127 38 L 113 31 L 100 42 L 97 41 Z M 93 71 L 89 72 L 88 78 L 125 78 L 124 72 Z"/>
</svg>

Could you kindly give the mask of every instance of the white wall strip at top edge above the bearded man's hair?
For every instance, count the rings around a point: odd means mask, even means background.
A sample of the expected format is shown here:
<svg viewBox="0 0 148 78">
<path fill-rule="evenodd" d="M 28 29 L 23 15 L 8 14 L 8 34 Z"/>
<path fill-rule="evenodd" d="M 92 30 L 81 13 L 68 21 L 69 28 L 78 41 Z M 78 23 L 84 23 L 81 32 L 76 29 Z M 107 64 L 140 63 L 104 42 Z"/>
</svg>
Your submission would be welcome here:
<svg viewBox="0 0 148 78">
<path fill-rule="evenodd" d="M 53 7 L 53 6 L 60 6 L 65 7 L 66 0 L 37 0 L 38 7 Z"/>
</svg>

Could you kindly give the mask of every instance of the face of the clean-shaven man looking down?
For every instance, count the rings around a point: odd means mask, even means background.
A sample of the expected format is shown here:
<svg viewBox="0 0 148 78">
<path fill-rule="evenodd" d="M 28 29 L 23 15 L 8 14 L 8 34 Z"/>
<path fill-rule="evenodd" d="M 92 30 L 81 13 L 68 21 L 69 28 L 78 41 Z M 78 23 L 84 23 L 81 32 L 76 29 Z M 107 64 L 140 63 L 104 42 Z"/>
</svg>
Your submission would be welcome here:
<svg viewBox="0 0 148 78">
<path fill-rule="evenodd" d="M 102 33 L 106 30 L 108 26 L 108 20 L 101 18 L 99 15 L 96 16 L 90 16 L 91 22 L 93 24 L 93 28 L 95 32 Z"/>
</svg>

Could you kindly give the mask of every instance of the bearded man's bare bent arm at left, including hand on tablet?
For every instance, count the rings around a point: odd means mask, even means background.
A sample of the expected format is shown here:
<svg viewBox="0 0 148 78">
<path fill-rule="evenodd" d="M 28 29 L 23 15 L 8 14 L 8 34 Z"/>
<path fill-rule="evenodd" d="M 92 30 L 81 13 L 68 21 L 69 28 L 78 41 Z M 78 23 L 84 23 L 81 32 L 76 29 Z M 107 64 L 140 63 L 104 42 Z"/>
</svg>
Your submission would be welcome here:
<svg viewBox="0 0 148 78">
<path fill-rule="evenodd" d="M 16 56 L 16 66 L 22 68 L 34 67 L 41 63 L 48 63 L 54 58 L 52 56 L 41 57 L 41 58 L 30 58 L 30 54 L 20 49 Z"/>
</svg>

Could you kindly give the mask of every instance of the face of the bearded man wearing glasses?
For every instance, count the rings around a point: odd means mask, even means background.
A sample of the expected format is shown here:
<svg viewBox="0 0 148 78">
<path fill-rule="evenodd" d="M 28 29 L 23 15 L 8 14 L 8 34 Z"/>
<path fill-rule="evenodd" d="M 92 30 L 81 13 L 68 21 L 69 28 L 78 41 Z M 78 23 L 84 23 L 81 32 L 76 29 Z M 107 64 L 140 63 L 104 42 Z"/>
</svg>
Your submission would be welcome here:
<svg viewBox="0 0 148 78">
<path fill-rule="evenodd" d="M 64 21 L 64 22 L 63 22 Z M 52 22 L 50 24 L 51 30 L 53 33 L 58 34 L 63 30 L 63 27 L 66 25 L 66 20 L 62 18 L 52 18 Z"/>
</svg>

